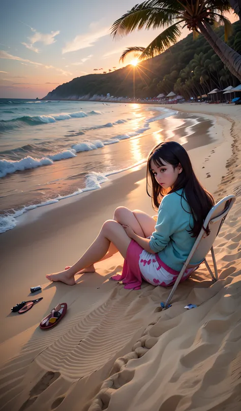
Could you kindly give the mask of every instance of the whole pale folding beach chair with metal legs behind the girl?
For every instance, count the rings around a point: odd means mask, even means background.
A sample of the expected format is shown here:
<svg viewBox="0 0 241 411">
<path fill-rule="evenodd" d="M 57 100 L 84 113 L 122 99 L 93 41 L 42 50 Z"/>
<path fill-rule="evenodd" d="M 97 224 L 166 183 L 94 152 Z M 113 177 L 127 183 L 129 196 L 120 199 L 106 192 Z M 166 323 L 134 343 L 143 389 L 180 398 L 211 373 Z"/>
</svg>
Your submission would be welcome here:
<svg viewBox="0 0 241 411">
<path fill-rule="evenodd" d="M 182 270 L 180 271 L 178 277 L 176 278 L 176 281 L 172 287 L 172 290 L 167 298 L 167 301 L 165 303 L 164 309 L 168 307 L 170 304 L 170 301 L 172 299 L 172 296 L 176 290 L 176 287 L 178 286 L 180 280 L 182 279 L 183 275 L 185 274 L 185 271 L 190 268 L 198 268 L 198 266 L 201 263 L 204 263 L 209 274 L 212 276 L 212 279 L 214 281 L 218 281 L 218 270 L 217 270 L 217 264 L 215 260 L 215 254 L 214 254 L 214 247 L 213 243 L 217 237 L 217 235 L 220 232 L 220 229 L 223 225 L 223 222 L 233 206 L 234 201 L 236 200 L 236 197 L 233 195 L 224 197 L 222 200 L 220 200 L 216 205 L 214 205 L 209 213 L 207 214 L 205 221 L 203 223 L 204 228 L 209 228 L 210 234 L 207 236 L 204 229 L 202 228 L 194 245 L 193 248 L 190 251 L 190 254 L 185 261 Z M 212 258 L 213 258 L 213 263 L 214 263 L 214 272 L 210 269 L 207 261 L 206 261 L 206 256 L 208 252 L 211 251 L 212 253 Z"/>
</svg>

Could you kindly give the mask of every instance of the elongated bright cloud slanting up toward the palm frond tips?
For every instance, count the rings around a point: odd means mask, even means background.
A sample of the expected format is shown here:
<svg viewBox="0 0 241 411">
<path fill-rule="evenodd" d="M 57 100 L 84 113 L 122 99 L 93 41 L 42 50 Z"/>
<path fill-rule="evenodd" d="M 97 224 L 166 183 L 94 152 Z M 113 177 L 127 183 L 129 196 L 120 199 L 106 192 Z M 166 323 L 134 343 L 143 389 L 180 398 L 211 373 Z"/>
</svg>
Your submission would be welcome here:
<svg viewBox="0 0 241 411">
<path fill-rule="evenodd" d="M 69 53 L 70 51 L 76 51 L 85 49 L 87 47 L 93 47 L 94 44 L 104 36 L 109 35 L 109 27 L 104 27 L 94 33 L 88 33 L 84 35 L 76 36 L 72 41 L 66 44 L 62 53 Z"/>
</svg>

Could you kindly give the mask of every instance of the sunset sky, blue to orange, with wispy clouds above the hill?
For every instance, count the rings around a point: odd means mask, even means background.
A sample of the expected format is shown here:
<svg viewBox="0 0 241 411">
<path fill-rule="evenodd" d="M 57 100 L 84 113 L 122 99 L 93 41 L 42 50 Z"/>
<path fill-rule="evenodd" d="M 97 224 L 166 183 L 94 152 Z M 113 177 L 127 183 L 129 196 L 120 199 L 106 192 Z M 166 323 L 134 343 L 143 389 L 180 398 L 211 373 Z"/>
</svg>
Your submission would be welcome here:
<svg viewBox="0 0 241 411">
<path fill-rule="evenodd" d="M 75 77 L 129 64 L 131 58 L 119 63 L 122 51 L 145 47 L 160 33 L 141 30 L 124 38 L 110 36 L 113 22 L 137 3 L 1 0 L 0 98 L 42 98 Z M 229 19 L 236 20 L 232 15 Z M 188 34 L 183 29 L 180 39 Z"/>
</svg>

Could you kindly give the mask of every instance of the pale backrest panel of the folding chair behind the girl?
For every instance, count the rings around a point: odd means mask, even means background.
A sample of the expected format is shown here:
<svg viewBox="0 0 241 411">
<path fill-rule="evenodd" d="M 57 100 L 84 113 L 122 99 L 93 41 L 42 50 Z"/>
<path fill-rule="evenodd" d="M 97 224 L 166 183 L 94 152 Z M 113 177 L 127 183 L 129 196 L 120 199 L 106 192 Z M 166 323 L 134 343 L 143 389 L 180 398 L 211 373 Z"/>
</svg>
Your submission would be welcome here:
<svg viewBox="0 0 241 411">
<path fill-rule="evenodd" d="M 186 261 L 186 267 L 197 266 L 205 259 L 235 200 L 234 195 L 224 197 L 210 209 L 203 223 L 204 228 L 209 228 L 210 234 L 206 235 L 204 229 L 201 229 Z"/>
</svg>

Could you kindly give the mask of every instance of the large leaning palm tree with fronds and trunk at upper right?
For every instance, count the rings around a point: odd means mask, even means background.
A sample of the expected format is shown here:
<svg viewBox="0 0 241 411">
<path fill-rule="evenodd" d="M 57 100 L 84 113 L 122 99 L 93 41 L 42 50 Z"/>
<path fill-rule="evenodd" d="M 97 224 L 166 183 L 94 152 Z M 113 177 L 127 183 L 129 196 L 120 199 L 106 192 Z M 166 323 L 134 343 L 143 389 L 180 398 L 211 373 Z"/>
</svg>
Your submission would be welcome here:
<svg viewBox="0 0 241 411">
<path fill-rule="evenodd" d="M 193 31 L 194 38 L 202 34 L 229 71 L 241 81 L 241 55 L 222 41 L 212 26 L 224 24 L 225 41 L 232 30 L 230 21 L 224 16 L 231 6 L 228 0 L 146 0 L 134 6 L 116 20 L 111 27 L 111 34 L 125 36 L 136 28 L 166 27 L 147 47 L 129 47 L 120 57 L 131 52 L 139 53 L 139 59 L 154 57 L 176 43 L 181 28 L 187 26 Z"/>
</svg>

